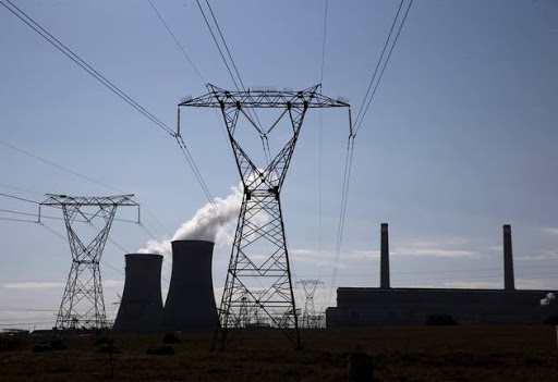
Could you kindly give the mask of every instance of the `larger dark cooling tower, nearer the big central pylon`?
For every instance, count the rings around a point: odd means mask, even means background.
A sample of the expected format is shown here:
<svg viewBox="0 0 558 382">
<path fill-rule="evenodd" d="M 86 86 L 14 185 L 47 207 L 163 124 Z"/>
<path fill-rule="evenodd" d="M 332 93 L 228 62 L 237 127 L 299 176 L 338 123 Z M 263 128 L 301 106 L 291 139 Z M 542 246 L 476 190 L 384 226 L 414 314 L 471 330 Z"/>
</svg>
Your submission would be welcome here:
<svg viewBox="0 0 558 382">
<path fill-rule="evenodd" d="M 163 310 L 167 331 L 210 330 L 217 324 L 211 257 L 214 243 L 172 242 L 172 276 Z"/>
</svg>

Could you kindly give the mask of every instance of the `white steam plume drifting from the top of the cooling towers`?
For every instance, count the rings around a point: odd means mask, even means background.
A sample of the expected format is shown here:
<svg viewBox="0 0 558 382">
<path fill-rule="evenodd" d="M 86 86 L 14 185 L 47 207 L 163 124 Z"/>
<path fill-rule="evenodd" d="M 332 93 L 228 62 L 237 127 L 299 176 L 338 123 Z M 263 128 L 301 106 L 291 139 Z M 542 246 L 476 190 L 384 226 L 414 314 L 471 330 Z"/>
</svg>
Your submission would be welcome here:
<svg viewBox="0 0 558 382">
<path fill-rule="evenodd" d="M 211 204 L 206 204 L 196 211 L 192 219 L 177 230 L 171 241 L 208 241 L 214 242 L 218 247 L 227 245 L 229 236 L 222 226 L 221 219 L 225 223 L 228 223 L 238 218 L 243 195 L 242 185 L 231 187 L 231 192 L 225 199 L 214 199 L 214 205 L 219 213 L 217 213 Z M 159 254 L 169 257 L 171 254 L 171 241 L 149 241 L 146 247 L 141 248 L 137 252 Z"/>
</svg>

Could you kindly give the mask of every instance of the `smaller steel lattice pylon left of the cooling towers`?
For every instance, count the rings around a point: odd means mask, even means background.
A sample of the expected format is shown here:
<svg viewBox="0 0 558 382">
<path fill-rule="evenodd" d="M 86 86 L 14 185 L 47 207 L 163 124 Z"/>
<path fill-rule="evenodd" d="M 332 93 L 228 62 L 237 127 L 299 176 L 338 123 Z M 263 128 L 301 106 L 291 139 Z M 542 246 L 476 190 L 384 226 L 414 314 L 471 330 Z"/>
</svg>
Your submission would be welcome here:
<svg viewBox="0 0 558 382">
<path fill-rule="evenodd" d="M 133 195 L 78 197 L 47 194 L 47 199 L 40 204 L 40 207 L 62 209 L 72 252 L 72 267 L 57 317 L 57 329 L 68 331 L 102 330 L 107 328 L 99 262 L 117 208 L 120 206 L 136 206 L 140 208 L 140 205 L 133 201 L 132 197 Z M 77 235 L 76 223 L 93 225 L 94 220 L 102 222 L 104 225 L 100 232 L 86 245 L 83 237 L 80 238 Z"/>
</svg>

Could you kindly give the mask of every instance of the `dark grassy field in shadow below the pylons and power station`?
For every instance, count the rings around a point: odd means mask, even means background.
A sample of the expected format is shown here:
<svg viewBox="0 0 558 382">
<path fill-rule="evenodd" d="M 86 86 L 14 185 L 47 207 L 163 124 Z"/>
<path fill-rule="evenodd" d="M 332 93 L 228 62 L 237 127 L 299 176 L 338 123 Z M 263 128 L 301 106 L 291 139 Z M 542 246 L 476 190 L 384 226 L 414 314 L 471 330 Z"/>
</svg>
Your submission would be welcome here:
<svg viewBox="0 0 558 382">
<path fill-rule="evenodd" d="M 377 381 L 558 381 L 555 326 L 401 326 L 303 331 L 295 352 L 281 333 L 246 331 L 227 352 L 211 334 L 180 335 L 171 356 L 146 355 L 162 336 L 117 336 L 114 381 L 347 381 L 359 347 L 374 357 Z M 45 338 L 11 340 L 0 381 L 110 381 L 108 354 L 92 336 L 33 353 Z M 5 338 L 1 340 L 5 344 Z"/>
</svg>

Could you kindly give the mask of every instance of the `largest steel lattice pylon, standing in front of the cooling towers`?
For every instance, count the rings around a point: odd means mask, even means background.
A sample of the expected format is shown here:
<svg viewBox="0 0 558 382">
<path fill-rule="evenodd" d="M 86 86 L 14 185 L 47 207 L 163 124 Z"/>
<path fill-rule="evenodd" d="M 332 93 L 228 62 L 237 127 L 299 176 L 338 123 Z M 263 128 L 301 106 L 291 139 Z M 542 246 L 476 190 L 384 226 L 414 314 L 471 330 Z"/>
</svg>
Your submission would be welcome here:
<svg viewBox="0 0 558 382">
<path fill-rule="evenodd" d="M 220 109 L 244 186 L 213 347 L 225 348 L 229 332 L 239 322 L 246 322 L 246 312 L 253 311 L 266 315 L 270 326 L 283 331 L 293 345 L 301 347 L 280 192 L 306 111 L 349 108 L 349 103 L 323 96 L 318 93 L 319 85 L 301 91 L 269 87 L 228 91 L 210 84 L 208 88 L 210 91 L 204 96 L 182 100 L 181 107 Z M 279 112 L 264 128 L 255 109 Z M 287 128 L 278 127 L 280 122 Z M 256 164 L 247 148 L 241 146 L 239 134 L 245 136 L 244 127 L 257 134 L 267 164 Z M 288 141 L 272 157 L 269 138 L 277 131 L 281 131 L 281 137 L 288 135 Z M 177 136 L 180 136 L 180 123 Z"/>
</svg>

